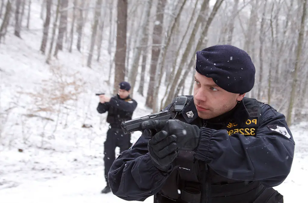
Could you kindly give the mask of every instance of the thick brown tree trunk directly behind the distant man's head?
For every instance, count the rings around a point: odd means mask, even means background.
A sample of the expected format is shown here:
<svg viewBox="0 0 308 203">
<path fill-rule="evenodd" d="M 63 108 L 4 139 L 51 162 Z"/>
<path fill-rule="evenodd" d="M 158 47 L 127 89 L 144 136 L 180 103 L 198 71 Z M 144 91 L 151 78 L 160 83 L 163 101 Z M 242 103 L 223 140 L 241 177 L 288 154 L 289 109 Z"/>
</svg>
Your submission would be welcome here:
<svg viewBox="0 0 308 203">
<path fill-rule="evenodd" d="M 115 50 L 115 77 L 113 93 L 118 92 L 119 83 L 125 78 L 126 31 L 127 31 L 127 0 L 118 0 L 117 31 Z"/>
</svg>

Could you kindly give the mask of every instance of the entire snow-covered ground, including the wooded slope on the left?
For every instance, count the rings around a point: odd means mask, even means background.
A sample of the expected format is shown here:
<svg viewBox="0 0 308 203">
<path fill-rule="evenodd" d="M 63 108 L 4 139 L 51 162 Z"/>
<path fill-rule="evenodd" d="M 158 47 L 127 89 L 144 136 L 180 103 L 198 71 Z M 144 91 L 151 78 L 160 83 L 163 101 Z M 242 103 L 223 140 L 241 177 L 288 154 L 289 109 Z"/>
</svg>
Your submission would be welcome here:
<svg viewBox="0 0 308 203">
<path fill-rule="evenodd" d="M 42 107 L 34 105 L 38 99 L 35 95 L 43 92 L 40 99 L 52 102 L 48 98 L 53 89 L 48 86 L 56 83 L 45 63 L 46 56 L 39 52 L 43 26 L 39 6 L 33 2 L 30 30 L 22 30 L 22 39 L 15 37 L 10 27 L 6 42 L 0 44 L 0 202 L 125 202 L 111 193 L 100 194 L 106 184 L 103 142 L 108 126 L 104 123 L 106 115 L 96 112 L 98 98 L 94 93 L 110 93 L 105 82 L 110 58 L 106 50 L 102 50 L 100 62 L 93 58 L 91 69 L 84 66 L 87 44 L 82 53 L 75 49 L 71 54 L 66 49 L 60 51 L 59 60 L 53 63 L 61 68 L 59 72 L 65 80 L 82 86 L 82 92 L 76 101 L 62 105 L 59 114 L 34 112 Z M 83 43 L 88 40 L 87 28 Z M 107 47 L 106 40 L 103 43 Z M 79 74 L 72 76 L 76 71 Z M 134 94 L 134 98 L 138 107 L 133 117 L 150 113 L 144 107 L 144 97 Z M 30 113 L 47 119 L 25 116 Z M 82 128 L 83 124 L 92 127 Z M 289 177 L 277 187 L 286 203 L 306 202 L 307 129 L 307 123 L 291 127 L 296 141 L 294 164 Z M 134 133 L 132 141 L 139 135 L 140 132 Z M 152 201 L 149 197 L 145 202 Z"/>
</svg>

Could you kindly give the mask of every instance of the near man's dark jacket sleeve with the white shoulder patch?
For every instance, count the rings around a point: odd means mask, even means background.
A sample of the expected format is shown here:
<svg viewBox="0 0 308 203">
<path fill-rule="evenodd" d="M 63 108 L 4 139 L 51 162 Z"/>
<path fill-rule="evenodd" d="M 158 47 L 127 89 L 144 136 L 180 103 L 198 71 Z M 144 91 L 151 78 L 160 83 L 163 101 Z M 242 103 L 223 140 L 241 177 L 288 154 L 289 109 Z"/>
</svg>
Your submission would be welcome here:
<svg viewBox="0 0 308 203">
<path fill-rule="evenodd" d="M 224 177 L 274 187 L 290 173 L 294 145 L 285 116 L 264 105 L 255 136 L 201 128 L 195 156 Z"/>
</svg>

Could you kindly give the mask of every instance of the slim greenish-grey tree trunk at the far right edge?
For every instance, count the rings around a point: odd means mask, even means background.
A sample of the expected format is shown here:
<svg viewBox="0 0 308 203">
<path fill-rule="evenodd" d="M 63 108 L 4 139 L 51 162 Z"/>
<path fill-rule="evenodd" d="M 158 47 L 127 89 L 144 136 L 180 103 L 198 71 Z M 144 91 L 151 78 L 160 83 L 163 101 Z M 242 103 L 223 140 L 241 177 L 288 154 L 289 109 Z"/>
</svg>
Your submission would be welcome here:
<svg viewBox="0 0 308 203">
<path fill-rule="evenodd" d="M 293 102 L 295 98 L 295 91 L 296 91 L 296 84 L 298 81 L 297 78 L 297 71 L 299 68 L 300 60 L 301 60 L 301 54 L 302 54 L 302 44 L 304 39 L 304 31 L 305 31 L 305 20 L 306 20 L 306 6 L 307 6 L 307 0 L 303 1 L 303 13 L 302 13 L 302 20 L 301 20 L 301 28 L 299 30 L 298 34 L 298 43 L 297 43 L 297 50 L 296 50 L 296 61 L 294 65 L 294 71 L 293 71 L 293 81 L 292 81 L 292 89 L 290 94 L 290 103 L 288 107 L 288 114 L 287 114 L 287 123 L 290 126 L 292 123 L 292 112 L 293 112 Z"/>
</svg>

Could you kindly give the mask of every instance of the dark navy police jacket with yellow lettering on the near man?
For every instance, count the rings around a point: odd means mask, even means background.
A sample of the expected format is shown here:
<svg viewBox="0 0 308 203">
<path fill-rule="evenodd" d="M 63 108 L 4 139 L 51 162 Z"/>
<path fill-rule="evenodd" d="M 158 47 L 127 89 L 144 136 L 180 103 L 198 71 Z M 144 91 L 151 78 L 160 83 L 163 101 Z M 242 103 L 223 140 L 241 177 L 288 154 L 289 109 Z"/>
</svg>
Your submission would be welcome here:
<svg viewBox="0 0 308 203">
<path fill-rule="evenodd" d="M 285 116 L 270 105 L 243 98 L 230 112 L 203 120 L 197 115 L 192 96 L 188 97 L 188 104 L 175 119 L 200 127 L 194 161 L 191 164 L 189 160 L 175 161 L 173 169 L 163 173 L 153 165 L 148 139 L 141 135 L 113 162 L 108 174 L 112 193 L 128 201 L 144 201 L 155 195 L 154 202 L 185 202 L 180 194 L 185 171 L 187 175 L 189 171 L 203 170 L 202 166 L 206 165 L 206 181 L 197 182 L 202 185 L 201 190 L 207 190 L 212 203 L 256 202 L 254 200 L 264 191 L 272 192 L 262 197 L 265 200 L 261 202 L 278 202 L 266 201 L 266 198 L 277 195 L 272 187 L 281 184 L 290 173 L 295 145 Z M 163 110 L 172 111 L 172 108 L 174 101 Z M 181 167 L 180 162 L 184 166 Z M 198 169 L 193 166 L 196 162 Z M 192 176 L 186 176 L 186 185 L 187 177 Z M 206 184 L 209 187 L 205 187 Z"/>
</svg>

